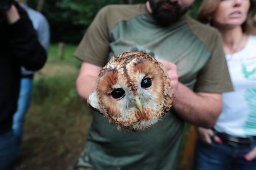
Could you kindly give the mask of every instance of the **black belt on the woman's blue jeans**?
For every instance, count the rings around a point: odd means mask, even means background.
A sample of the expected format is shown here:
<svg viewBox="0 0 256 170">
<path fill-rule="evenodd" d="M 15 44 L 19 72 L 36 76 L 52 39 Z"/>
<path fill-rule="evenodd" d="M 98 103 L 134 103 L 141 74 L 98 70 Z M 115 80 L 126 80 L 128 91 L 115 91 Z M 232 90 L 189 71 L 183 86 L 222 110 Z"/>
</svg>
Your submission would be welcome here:
<svg viewBox="0 0 256 170">
<path fill-rule="evenodd" d="M 256 136 L 251 137 L 235 137 L 228 135 L 226 133 L 216 132 L 216 135 L 223 141 L 227 143 L 239 143 L 239 144 L 251 144 L 256 142 Z"/>
</svg>

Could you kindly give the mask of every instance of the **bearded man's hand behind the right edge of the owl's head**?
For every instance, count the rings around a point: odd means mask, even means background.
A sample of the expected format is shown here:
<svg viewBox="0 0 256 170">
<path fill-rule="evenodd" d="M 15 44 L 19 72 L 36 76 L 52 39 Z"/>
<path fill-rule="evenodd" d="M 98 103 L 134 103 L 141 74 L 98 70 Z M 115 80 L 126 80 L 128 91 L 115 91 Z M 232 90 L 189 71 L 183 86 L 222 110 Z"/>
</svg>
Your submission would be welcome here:
<svg viewBox="0 0 256 170">
<path fill-rule="evenodd" d="M 178 89 L 178 74 L 177 74 L 177 66 L 169 61 L 158 60 L 160 63 L 164 65 L 166 70 L 168 71 L 168 76 L 171 80 L 172 94 L 177 92 Z"/>
</svg>

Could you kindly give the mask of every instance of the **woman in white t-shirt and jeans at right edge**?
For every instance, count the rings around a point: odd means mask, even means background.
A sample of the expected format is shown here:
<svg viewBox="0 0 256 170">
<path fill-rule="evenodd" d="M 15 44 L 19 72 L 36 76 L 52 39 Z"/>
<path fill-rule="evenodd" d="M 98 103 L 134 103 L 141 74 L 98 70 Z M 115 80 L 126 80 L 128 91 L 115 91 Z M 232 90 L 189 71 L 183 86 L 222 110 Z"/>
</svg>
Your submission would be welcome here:
<svg viewBox="0 0 256 170">
<path fill-rule="evenodd" d="M 256 168 L 256 36 L 248 22 L 254 5 L 252 0 L 204 0 L 200 7 L 198 20 L 222 35 L 234 92 L 222 94 L 213 129 L 198 127 L 195 170 Z"/>
</svg>

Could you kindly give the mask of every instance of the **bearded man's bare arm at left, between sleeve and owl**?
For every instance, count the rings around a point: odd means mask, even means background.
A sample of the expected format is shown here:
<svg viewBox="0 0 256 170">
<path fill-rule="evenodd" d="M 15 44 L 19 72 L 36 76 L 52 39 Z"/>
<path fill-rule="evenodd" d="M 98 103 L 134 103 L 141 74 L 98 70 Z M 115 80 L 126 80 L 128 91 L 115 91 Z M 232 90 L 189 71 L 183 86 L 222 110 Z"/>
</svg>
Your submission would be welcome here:
<svg viewBox="0 0 256 170">
<path fill-rule="evenodd" d="M 94 92 L 96 80 L 102 67 L 83 62 L 80 73 L 76 80 L 76 88 L 80 97 L 87 100 L 89 95 Z"/>
</svg>

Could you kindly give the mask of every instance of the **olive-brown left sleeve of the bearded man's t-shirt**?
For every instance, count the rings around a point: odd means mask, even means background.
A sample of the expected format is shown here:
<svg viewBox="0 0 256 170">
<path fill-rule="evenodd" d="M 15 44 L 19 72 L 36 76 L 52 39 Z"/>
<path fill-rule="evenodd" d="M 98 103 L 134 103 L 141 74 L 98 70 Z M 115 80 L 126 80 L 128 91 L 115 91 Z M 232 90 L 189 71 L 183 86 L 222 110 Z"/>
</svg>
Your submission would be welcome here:
<svg viewBox="0 0 256 170">
<path fill-rule="evenodd" d="M 88 27 L 74 56 L 81 61 L 104 66 L 109 51 L 109 30 L 106 20 L 107 8 L 102 8 Z"/>
</svg>

